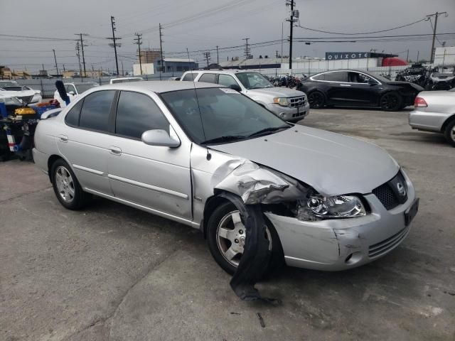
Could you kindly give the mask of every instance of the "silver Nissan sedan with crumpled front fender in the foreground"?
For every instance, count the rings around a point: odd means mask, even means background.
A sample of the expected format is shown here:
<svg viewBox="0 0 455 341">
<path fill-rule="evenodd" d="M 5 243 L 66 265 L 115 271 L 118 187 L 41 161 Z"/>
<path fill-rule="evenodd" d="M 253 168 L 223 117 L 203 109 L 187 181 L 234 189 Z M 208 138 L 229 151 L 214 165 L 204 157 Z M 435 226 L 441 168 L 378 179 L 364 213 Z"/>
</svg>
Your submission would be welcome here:
<svg viewBox="0 0 455 341">
<path fill-rule="evenodd" d="M 90 89 L 41 119 L 35 146 L 64 207 L 95 194 L 200 229 L 230 273 L 245 245 L 239 209 L 250 205 L 275 259 L 328 271 L 395 249 L 417 213 L 410 178 L 382 148 L 286 123 L 203 82 Z"/>
</svg>

